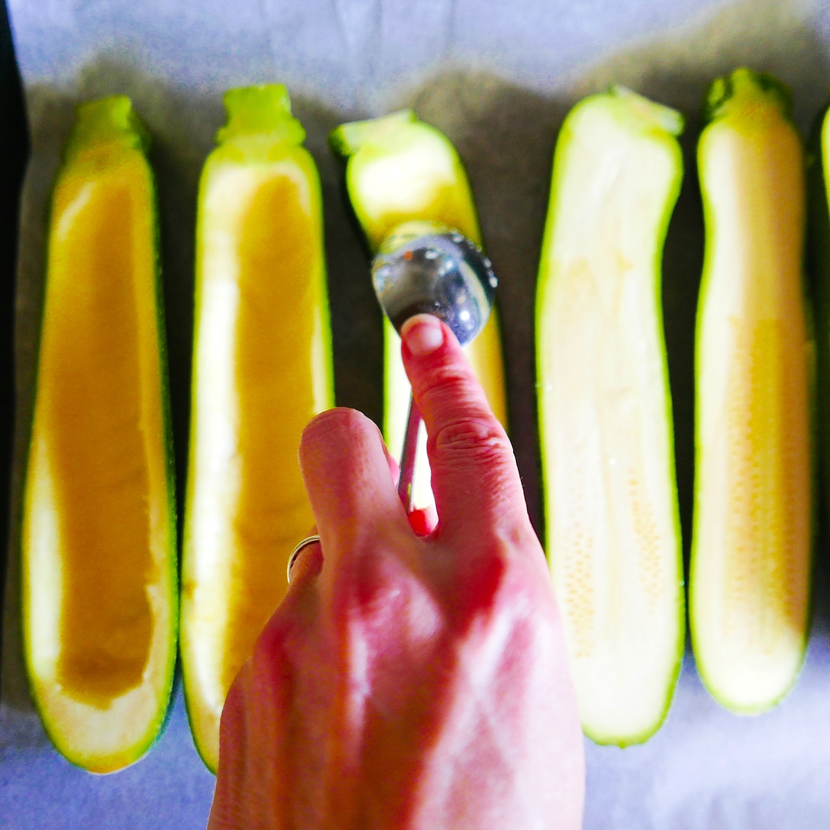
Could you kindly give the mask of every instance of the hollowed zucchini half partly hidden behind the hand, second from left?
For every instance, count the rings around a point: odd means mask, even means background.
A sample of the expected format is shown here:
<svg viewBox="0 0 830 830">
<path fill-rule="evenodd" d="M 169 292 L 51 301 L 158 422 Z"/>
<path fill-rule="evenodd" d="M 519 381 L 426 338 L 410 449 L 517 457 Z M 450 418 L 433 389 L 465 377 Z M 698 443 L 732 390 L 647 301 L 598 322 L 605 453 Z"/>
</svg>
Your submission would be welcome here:
<svg viewBox="0 0 830 830">
<path fill-rule="evenodd" d="M 183 545 L 193 738 L 218 762 L 228 688 L 314 521 L 297 447 L 334 403 L 320 182 L 284 86 L 230 90 L 198 198 Z"/>
</svg>

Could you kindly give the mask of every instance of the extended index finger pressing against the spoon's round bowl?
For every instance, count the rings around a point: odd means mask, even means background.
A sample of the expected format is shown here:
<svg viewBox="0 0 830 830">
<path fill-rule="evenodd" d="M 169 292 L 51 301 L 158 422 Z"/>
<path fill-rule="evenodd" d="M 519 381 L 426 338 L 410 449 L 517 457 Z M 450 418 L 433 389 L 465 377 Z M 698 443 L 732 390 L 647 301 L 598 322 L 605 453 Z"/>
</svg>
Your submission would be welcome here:
<svg viewBox="0 0 830 830">
<path fill-rule="evenodd" d="M 442 530 L 477 533 L 527 520 L 513 447 L 452 331 L 432 315 L 403 325 L 403 365 L 427 426 Z"/>
</svg>

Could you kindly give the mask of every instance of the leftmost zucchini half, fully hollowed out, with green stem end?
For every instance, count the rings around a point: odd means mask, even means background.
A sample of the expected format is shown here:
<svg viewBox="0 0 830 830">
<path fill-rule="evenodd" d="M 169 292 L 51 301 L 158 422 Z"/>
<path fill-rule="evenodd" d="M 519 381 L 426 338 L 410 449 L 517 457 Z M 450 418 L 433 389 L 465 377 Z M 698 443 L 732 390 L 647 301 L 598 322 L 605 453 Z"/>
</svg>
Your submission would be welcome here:
<svg viewBox="0 0 830 830">
<path fill-rule="evenodd" d="M 78 109 L 52 196 L 22 517 L 24 648 L 73 764 L 131 764 L 176 655 L 172 455 L 154 184 L 122 95 Z"/>
</svg>

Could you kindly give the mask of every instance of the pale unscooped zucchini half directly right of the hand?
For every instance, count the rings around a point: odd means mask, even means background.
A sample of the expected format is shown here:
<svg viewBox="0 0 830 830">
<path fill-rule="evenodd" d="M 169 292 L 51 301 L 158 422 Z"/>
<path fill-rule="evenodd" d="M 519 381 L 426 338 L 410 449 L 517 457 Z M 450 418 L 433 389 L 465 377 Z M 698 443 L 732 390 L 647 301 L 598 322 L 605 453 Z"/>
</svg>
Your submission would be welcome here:
<svg viewBox="0 0 830 830">
<path fill-rule="evenodd" d="M 681 116 L 628 90 L 579 103 L 554 156 L 536 306 L 547 553 L 586 734 L 666 715 L 684 631 L 661 258 Z"/>
</svg>

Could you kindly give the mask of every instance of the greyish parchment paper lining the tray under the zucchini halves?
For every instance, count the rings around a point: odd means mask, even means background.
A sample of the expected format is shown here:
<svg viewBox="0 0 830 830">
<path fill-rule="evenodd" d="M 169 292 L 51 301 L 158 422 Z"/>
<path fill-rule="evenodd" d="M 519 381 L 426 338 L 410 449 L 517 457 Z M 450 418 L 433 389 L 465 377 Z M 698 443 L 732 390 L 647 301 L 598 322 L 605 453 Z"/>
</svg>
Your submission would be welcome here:
<svg viewBox="0 0 830 830">
<path fill-rule="evenodd" d="M 380 318 L 328 131 L 413 105 L 457 144 L 500 275 L 510 422 L 540 529 L 533 304 L 557 130 L 580 96 L 623 83 L 688 116 L 686 181 L 664 258 L 664 311 L 681 513 L 690 530 L 692 346 L 702 256 L 693 151 L 708 82 L 773 71 L 808 129 L 830 86 L 830 4 L 786 0 L 10 0 L 32 129 L 21 222 L 15 492 L 31 410 L 47 193 L 79 100 L 131 95 L 154 139 L 178 469 L 187 439 L 198 173 L 233 85 L 282 81 L 308 130 L 325 197 L 338 403 L 380 417 Z M 16 496 L 17 499 L 17 496 Z M 17 515 L 17 500 L 12 505 Z M 16 532 L 5 603 L 0 826 L 202 828 L 213 779 L 180 696 L 163 739 L 123 773 L 66 764 L 33 713 L 20 664 Z M 588 830 L 830 827 L 830 625 L 824 545 L 803 675 L 739 718 L 707 696 L 687 652 L 666 725 L 646 745 L 586 741 Z"/>
</svg>

